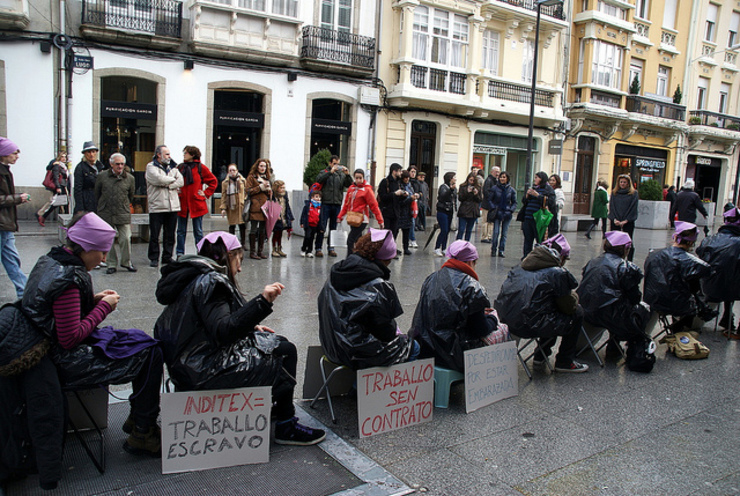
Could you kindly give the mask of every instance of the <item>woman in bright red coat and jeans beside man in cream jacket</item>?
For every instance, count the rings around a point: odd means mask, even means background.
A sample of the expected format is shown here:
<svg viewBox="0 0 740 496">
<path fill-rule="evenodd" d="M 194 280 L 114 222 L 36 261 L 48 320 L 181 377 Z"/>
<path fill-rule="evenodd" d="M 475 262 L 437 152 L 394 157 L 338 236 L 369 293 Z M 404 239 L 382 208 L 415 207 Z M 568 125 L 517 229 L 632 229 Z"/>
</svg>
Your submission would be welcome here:
<svg viewBox="0 0 740 496">
<path fill-rule="evenodd" d="M 177 214 L 177 256 L 185 254 L 185 235 L 188 217 L 193 219 L 195 245 L 203 239 L 203 216 L 208 213 L 208 198 L 218 186 L 218 179 L 205 165 L 200 163 L 200 150 L 186 146 L 182 151 L 183 163 L 178 165 L 185 185 L 180 188 L 180 212 Z"/>
</svg>

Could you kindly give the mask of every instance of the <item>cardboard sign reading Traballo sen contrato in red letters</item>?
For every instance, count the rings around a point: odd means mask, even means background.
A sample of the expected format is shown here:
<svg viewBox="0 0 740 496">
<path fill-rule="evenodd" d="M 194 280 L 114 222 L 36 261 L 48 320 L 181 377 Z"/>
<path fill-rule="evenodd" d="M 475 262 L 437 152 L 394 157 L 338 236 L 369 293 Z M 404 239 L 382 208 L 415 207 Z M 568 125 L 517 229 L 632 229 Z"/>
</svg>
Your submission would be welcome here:
<svg viewBox="0 0 740 496">
<path fill-rule="evenodd" d="M 360 437 L 432 420 L 434 359 L 357 371 Z"/>
</svg>

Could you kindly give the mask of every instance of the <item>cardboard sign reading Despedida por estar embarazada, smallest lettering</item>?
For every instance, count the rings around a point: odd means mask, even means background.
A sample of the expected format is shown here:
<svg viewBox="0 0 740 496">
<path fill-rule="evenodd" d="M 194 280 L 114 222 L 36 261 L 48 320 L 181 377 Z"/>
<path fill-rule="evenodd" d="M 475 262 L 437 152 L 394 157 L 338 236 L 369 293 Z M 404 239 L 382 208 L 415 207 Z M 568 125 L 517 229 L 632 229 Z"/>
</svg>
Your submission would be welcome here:
<svg viewBox="0 0 740 496">
<path fill-rule="evenodd" d="M 519 394 L 516 341 L 465 352 L 465 411 Z"/>
</svg>

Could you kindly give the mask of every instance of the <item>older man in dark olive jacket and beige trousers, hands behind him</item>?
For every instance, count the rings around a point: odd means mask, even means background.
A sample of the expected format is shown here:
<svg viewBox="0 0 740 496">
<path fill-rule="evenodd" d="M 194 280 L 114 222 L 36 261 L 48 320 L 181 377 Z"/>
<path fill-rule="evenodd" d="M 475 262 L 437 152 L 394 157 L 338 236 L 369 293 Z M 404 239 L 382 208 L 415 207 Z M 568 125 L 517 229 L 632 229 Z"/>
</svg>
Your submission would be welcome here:
<svg viewBox="0 0 740 496">
<path fill-rule="evenodd" d="M 136 272 L 136 267 L 131 263 L 131 202 L 134 201 L 134 176 L 126 172 L 126 157 L 120 153 L 110 156 L 110 165 L 110 169 L 101 172 L 95 181 L 97 213 L 116 230 L 118 240 L 108 252 L 108 269 L 105 273 L 115 273 L 119 261 L 121 267 L 127 271 Z"/>
</svg>

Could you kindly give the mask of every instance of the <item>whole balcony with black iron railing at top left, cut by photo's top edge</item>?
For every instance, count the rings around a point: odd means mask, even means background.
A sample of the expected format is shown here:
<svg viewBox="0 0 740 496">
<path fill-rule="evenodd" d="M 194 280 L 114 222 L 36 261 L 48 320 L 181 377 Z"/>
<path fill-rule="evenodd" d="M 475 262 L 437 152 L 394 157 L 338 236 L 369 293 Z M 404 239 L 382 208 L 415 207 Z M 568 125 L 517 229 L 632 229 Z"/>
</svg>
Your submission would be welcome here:
<svg viewBox="0 0 740 496">
<path fill-rule="evenodd" d="M 105 42 L 176 49 L 181 43 L 182 2 L 82 0 L 83 35 Z"/>
</svg>

